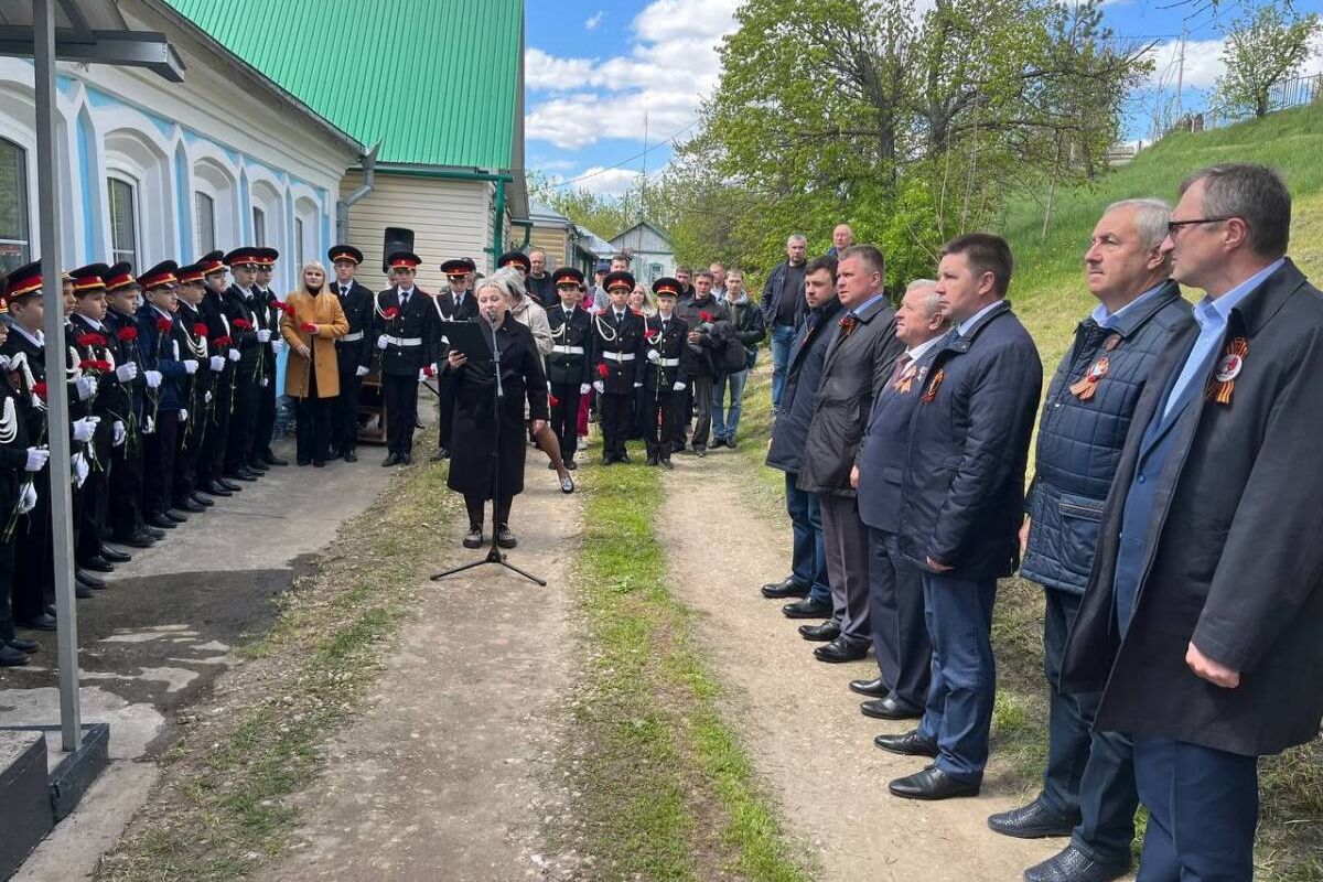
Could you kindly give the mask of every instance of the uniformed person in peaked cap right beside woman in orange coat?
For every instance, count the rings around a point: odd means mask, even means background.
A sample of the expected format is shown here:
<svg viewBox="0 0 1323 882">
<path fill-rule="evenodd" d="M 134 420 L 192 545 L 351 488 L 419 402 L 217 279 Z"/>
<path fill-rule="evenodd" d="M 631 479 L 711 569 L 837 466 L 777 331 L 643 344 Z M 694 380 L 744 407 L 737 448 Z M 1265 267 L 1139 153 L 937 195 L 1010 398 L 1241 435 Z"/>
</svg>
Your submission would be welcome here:
<svg viewBox="0 0 1323 882">
<path fill-rule="evenodd" d="M 332 456 L 343 456 L 347 463 L 357 463 L 359 454 L 359 397 L 363 378 L 372 365 L 376 352 L 366 335 L 372 325 L 372 291 L 359 284 L 353 275 L 363 263 L 363 251 L 352 245 L 337 245 L 327 251 L 335 270 L 331 294 L 340 299 L 349 332 L 335 341 L 336 370 L 340 374 L 340 394 L 331 415 Z"/>
</svg>

